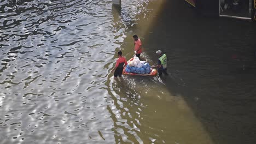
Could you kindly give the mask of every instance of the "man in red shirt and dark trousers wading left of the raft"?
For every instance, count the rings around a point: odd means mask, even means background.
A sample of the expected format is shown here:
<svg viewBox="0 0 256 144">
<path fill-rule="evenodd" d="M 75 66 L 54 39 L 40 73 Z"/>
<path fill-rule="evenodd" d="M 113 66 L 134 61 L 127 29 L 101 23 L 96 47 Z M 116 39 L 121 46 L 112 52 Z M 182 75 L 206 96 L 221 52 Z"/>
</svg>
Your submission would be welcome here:
<svg viewBox="0 0 256 144">
<path fill-rule="evenodd" d="M 114 73 L 115 78 L 117 78 L 117 76 L 119 76 L 119 77 L 122 76 L 123 69 L 124 69 L 125 65 L 127 65 L 127 61 L 126 61 L 125 57 L 122 56 L 122 52 L 119 51 L 117 63 L 115 64 L 115 68 L 113 70 L 111 70 L 111 73 L 113 73 L 113 71 L 115 71 L 115 73 Z"/>
</svg>

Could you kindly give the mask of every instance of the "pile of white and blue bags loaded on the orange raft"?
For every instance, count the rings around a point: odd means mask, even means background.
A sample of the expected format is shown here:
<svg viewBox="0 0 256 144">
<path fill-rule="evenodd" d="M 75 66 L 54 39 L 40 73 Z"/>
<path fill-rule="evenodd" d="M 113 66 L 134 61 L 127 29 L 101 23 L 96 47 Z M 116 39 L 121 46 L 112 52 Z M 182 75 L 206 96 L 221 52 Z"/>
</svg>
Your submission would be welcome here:
<svg viewBox="0 0 256 144">
<path fill-rule="evenodd" d="M 145 61 L 139 61 L 138 57 L 134 57 L 132 61 L 127 63 L 125 71 L 127 73 L 149 74 L 150 65 Z"/>
</svg>

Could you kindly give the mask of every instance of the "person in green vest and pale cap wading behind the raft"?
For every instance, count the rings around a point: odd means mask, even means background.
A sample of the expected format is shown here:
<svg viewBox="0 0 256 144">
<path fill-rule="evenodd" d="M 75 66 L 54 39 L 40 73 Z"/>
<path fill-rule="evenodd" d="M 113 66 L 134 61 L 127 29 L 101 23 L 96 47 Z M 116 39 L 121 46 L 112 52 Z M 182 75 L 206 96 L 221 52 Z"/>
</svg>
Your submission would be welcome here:
<svg viewBox="0 0 256 144">
<path fill-rule="evenodd" d="M 158 58 L 158 65 L 153 65 L 152 68 L 158 68 L 158 75 L 161 76 L 162 73 L 164 73 L 165 75 L 167 74 L 167 56 L 165 54 L 162 53 L 161 50 L 158 50 L 155 52 L 156 54 L 158 54 L 159 58 Z"/>
</svg>

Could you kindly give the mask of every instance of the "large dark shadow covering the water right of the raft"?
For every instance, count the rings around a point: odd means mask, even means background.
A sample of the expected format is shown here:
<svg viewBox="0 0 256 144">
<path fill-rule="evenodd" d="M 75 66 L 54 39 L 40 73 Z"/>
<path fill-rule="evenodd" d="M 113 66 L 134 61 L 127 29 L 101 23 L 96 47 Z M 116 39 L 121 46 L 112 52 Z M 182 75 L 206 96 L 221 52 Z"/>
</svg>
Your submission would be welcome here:
<svg viewBox="0 0 256 144">
<path fill-rule="evenodd" d="M 166 89 L 183 95 L 214 143 L 255 143 L 255 23 L 201 17 L 182 1 L 155 17 L 144 44 L 168 57 Z"/>
</svg>

